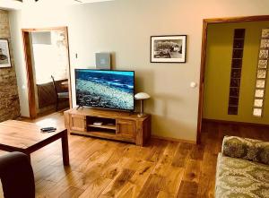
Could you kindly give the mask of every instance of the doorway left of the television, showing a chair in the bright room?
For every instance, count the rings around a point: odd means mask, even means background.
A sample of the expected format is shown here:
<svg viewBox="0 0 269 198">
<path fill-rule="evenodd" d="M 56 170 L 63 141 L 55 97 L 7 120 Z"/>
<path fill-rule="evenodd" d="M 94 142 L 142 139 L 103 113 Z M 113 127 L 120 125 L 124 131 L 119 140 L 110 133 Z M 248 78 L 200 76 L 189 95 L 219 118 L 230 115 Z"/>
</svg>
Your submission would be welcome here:
<svg viewBox="0 0 269 198">
<path fill-rule="evenodd" d="M 23 29 L 30 118 L 72 108 L 67 27 Z"/>
</svg>

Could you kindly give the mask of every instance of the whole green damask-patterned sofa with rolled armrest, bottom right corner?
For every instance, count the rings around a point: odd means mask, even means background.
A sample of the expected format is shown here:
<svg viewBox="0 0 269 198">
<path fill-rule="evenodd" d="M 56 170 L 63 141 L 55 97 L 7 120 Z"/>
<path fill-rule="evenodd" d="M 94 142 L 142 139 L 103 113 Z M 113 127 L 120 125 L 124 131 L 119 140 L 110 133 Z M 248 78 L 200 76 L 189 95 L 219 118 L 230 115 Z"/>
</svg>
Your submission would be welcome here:
<svg viewBox="0 0 269 198">
<path fill-rule="evenodd" d="M 224 137 L 217 162 L 215 197 L 269 198 L 269 142 Z"/>
</svg>

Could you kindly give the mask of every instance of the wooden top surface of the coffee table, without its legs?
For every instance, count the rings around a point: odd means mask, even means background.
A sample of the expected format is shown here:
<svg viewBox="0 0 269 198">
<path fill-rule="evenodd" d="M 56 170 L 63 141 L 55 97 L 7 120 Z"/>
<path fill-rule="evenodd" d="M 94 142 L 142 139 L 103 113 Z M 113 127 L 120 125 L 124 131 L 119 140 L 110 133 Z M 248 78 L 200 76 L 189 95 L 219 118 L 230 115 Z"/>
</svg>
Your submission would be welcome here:
<svg viewBox="0 0 269 198">
<path fill-rule="evenodd" d="M 7 120 L 0 123 L 0 146 L 28 149 L 39 142 L 43 142 L 64 133 L 65 128 L 58 128 L 53 133 L 41 133 L 40 125 L 17 120 Z"/>
</svg>

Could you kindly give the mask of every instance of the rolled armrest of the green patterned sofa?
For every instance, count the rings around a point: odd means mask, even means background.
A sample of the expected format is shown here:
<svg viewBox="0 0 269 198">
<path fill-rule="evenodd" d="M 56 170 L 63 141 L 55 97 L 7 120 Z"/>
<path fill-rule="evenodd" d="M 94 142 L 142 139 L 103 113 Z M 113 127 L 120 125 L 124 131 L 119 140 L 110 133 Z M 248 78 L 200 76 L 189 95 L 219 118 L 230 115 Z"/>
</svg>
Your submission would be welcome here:
<svg viewBox="0 0 269 198">
<path fill-rule="evenodd" d="M 225 136 L 221 148 L 222 155 L 247 159 L 269 165 L 269 142 Z"/>
</svg>

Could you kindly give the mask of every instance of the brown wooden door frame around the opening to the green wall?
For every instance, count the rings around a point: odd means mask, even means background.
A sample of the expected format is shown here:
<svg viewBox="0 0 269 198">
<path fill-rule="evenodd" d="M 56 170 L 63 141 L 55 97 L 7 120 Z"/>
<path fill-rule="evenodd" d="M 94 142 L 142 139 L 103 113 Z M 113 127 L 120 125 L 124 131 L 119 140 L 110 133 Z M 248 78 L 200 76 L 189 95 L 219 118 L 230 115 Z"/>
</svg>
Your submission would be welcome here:
<svg viewBox="0 0 269 198">
<path fill-rule="evenodd" d="M 213 18 L 213 19 L 204 19 L 203 20 L 200 83 L 199 83 L 199 105 L 198 105 L 196 143 L 201 143 L 201 134 L 202 134 L 202 118 L 203 118 L 203 110 L 204 110 L 203 109 L 204 108 L 204 73 L 205 73 L 205 66 L 206 66 L 206 45 L 207 45 L 208 25 L 213 24 L 213 23 L 263 22 L 263 21 L 269 21 L 269 15 Z"/>
</svg>

